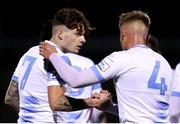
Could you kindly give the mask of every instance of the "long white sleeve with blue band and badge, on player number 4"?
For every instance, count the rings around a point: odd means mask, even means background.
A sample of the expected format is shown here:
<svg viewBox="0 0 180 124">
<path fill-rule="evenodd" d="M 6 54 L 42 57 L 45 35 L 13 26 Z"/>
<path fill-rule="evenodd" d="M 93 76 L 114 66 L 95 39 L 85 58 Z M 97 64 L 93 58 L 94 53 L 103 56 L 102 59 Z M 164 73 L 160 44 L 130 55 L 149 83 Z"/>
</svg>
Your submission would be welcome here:
<svg viewBox="0 0 180 124">
<path fill-rule="evenodd" d="M 114 54 L 107 56 L 98 65 L 80 72 L 66 64 L 58 53 L 52 54 L 50 61 L 58 74 L 72 87 L 95 84 L 112 78 L 118 72 Z"/>
</svg>

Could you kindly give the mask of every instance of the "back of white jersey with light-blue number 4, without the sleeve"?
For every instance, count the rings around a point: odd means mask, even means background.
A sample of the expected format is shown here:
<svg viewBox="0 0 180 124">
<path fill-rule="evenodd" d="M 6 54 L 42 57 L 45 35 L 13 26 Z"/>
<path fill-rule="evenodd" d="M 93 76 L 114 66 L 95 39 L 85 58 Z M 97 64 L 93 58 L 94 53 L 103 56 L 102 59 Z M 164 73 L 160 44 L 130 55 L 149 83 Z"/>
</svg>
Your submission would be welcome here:
<svg viewBox="0 0 180 124">
<path fill-rule="evenodd" d="M 113 53 L 119 72 L 115 85 L 122 122 L 168 122 L 171 67 L 146 46 Z"/>
</svg>

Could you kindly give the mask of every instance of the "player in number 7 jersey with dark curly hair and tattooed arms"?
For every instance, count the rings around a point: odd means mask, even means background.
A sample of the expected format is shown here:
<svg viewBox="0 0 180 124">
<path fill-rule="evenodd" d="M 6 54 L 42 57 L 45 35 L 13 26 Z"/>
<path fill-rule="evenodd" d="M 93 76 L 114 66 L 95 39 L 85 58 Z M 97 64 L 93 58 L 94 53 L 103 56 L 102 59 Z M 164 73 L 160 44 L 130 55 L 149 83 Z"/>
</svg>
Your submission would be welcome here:
<svg viewBox="0 0 180 124">
<path fill-rule="evenodd" d="M 78 53 L 85 42 L 84 33 L 90 29 L 89 22 L 84 15 L 76 9 L 62 9 L 55 14 L 52 24 L 52 38 L 49 43 L 57 46 L 57 50 L 60 48 L 63 52 Z M 68 59 L 65 55 L 63 58 L 66 60 Z M 61 112 L 57 114 L 56 112 L 52 112 L 50 108 L 51 104 L 49 105 L 49 101 L 51 98 L 48 100 L 49 88 L 47 88 L 50 75 L 44 69 L 43 59 L 44 58 L 39 55 L 39 46 L 30 48 L 21 57 L 9 84 L 5 96 L 5 103 L 13 106 L 19 111 L 19 123 L 66 122 L 63 118 L 63 112 L 62 114 Z M 75 64 L 73 63 L 73 65 Z M 82 66 L 82 68 L 84 67 L 85 65 Z M 50 81 L 52 83 L 53 80 Z M 85 99 L 77 101 L 77 98 L 65 97 L 64 88 L 62 86 L 56 87 L 58 93 L 61 93 L 61 95 L 58 96 L 60 101 L 56 102 L 59 105 L 63 103 L 60 107 L 66 111 L 89 108 L 92 106 L 96 107 L 109 99 L 109 94 L 107 92 L 102 92 L 99 94 L 96 93 L 92 95 L 92 97 L 89 94 L 88 96 L 86 95 L 86 98 L 85 96 L 79 97 Z M 80 92 L 77 91 L 77 94 L 81 94 L 83 89 L 79 91 Z M 73 94 L 75 92 L 69 91 L 69 93 Z M 81 108 L 76 108 L 74 105 L 75 103 L 68 100 L 78 102 L 79 104 L 77 104 L 77 107 Z M 71 114 L 71 117 L 77 118 L 78 116 L 77 114 Z"/>
</svg>

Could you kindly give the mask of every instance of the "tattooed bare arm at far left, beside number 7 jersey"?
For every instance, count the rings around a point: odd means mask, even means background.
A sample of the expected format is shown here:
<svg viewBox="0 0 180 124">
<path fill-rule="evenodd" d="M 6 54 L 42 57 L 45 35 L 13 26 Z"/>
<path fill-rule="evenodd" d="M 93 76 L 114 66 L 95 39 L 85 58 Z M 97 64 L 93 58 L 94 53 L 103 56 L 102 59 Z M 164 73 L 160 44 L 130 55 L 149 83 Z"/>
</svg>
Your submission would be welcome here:
<svg viewBox="0 0 180 124">
<path fill-rule="evenodd" d="M 13 79 L 11 80 L 6 91 L 4 103 L 13 107 L 17 112 L 19 112 L 18 82 Z"/>
</svg>

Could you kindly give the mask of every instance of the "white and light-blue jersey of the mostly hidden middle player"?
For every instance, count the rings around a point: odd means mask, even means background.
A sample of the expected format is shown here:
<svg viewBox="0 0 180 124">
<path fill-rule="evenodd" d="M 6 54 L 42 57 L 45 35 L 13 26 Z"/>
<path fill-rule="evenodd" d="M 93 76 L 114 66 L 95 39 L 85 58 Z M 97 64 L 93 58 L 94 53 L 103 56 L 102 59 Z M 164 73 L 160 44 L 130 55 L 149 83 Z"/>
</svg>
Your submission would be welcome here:
<svg viewBox="0 0 180 124">
<path fill-rule="evenodd" d="M 78 71 L 89 68 L 94 65 L 92 60 L 72 53 L 65 54 L 66 58 L 63 56 L 63 60 L 66 63 L 70 64 L 73 68 Z M 52 75 L 52 74 L 51 74 Z M 53 76 L 49 76 L 48 86 L 59 85 L 58 79 L 55 79 Z M 99 92 L 101 90 L 100 84 L 94 84 L 91 86 L 86 86 L 82 88 L 72 88 L 68 84 L 65 84 L 66 87 L 66 96 L 70 96 L 76 99 L 85 99 L 91 97 L 94 92 Z M 61 112 L 57 113 L 58 122 L 67 122 L 67 123 L 88 123 L 91 122 L 92 109 L 84 109 L 73 112 Z"/>
</svg>

